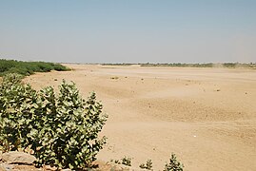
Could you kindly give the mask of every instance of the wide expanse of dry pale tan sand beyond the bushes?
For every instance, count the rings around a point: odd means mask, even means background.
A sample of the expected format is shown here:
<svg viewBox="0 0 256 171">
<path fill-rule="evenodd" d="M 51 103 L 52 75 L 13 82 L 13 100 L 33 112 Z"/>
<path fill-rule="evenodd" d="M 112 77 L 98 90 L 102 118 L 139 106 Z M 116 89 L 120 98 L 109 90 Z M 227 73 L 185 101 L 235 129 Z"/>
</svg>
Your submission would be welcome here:
<svg viewBox="0 0 256 171">
<path fill-rule="evenodd" d="M 108 122 L 98 159 L 148 159 L 163 170 L 171 152 L 185 170 L 256 170 L 256 70 L 68 65 L 26 78 L 35 88 L 66 79 L 97 93 Z M 114 78 L 114 79 L 113 79 Z"/>
</svg>

